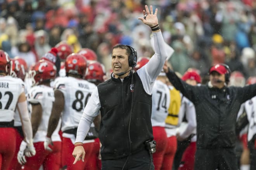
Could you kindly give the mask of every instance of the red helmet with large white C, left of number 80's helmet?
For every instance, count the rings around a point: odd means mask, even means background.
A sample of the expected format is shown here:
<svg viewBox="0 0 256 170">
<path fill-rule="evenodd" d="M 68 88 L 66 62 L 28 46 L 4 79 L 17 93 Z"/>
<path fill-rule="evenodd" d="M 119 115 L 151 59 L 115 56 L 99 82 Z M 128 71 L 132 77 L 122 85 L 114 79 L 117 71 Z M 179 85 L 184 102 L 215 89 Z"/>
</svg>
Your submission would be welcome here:
<svg viewBox="0 0 256 170">
<path fill-rule="evenodd" d="M 38 85 L 45 80 L 52 80 L 56 77 L 56 66 L 47 60 L 40 60 L 29 71 L 32 85 Z"/>
</svg>

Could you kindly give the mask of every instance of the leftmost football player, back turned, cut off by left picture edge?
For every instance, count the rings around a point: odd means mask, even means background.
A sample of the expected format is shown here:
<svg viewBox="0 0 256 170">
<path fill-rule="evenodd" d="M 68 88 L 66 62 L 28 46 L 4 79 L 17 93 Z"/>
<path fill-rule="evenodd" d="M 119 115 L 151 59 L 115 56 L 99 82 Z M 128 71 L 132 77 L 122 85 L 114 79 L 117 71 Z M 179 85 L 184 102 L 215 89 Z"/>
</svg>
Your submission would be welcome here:
<svg viewBox="0 0 256 170">
<path fill-rule="evenodd" d="M 16 148 L 16 133 L 14 127 L 15 109 L 19 111 L 24 133 L 21 142 L 23 152 L 18 153 L 18 159 L 36 154 L 33 146 L 32 128 L 28 114 L 24 83 L 19 78 L 8 76 L 10 58 L 0 50 L 0 167 L 8 169 Z"/>
</svg>

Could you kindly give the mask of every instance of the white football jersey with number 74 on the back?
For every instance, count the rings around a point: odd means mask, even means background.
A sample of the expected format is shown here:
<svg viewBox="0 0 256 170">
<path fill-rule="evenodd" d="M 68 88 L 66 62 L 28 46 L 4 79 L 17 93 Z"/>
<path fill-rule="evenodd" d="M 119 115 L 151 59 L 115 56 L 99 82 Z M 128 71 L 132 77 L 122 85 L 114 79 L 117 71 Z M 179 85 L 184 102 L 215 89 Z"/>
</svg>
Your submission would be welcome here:
<svg viewBox="0 0 256 170">
<path fill-rule="evenodd" d="M 152 126 L 165 126 L 169 105 L 170 92 L 168 86 L 160 80 L 156 80 L 152 89 Z"/>
</svg>

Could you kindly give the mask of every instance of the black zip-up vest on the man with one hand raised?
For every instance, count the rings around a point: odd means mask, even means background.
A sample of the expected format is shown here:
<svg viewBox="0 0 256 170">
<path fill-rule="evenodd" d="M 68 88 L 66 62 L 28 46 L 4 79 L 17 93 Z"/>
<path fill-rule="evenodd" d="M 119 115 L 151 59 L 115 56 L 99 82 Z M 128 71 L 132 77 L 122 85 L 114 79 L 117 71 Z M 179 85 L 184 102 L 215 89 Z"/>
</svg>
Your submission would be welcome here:
<svg viewBox="0 0 256 170">
<path fill-rule="evenodd" d="M 130 73 L 123 82 L 120 78 L 112 77 L 99 84 L 98 92 L 102 160 L 118 159 L 144 150 L 144 142 L 153 139 L 152 95 L 145 92 L 138 74 L 133 73 L 133 85 Z"/>
</svg>

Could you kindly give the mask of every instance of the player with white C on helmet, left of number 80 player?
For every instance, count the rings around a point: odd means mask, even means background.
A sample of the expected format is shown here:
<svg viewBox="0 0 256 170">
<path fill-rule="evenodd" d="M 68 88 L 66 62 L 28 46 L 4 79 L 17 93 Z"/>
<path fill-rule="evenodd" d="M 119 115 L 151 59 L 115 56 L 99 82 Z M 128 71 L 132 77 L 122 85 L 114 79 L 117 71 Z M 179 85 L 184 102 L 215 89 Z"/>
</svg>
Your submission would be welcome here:
<svg viewBox="0 0 256 170">
<path fill-rule="evenodd" d="M 52 135 L 51 152 L 44 150 L 43 145 L 54 102 L 54 90 L 50 82 L 54 80 L 56 72 L 55 65 L 46 60 L 38 61 L 29 71 L 33 87 L 29 90 L 28 102 L 32 107 L 31 123 L 37 154 L 25 160 L 24 170 L 39 169 L 41 165 L 44 169 L 59 170 L 61 166 L 61 138 L 58 130 Z M 58 126 L 60 128 L 60 122 Z"/>
</svg>

